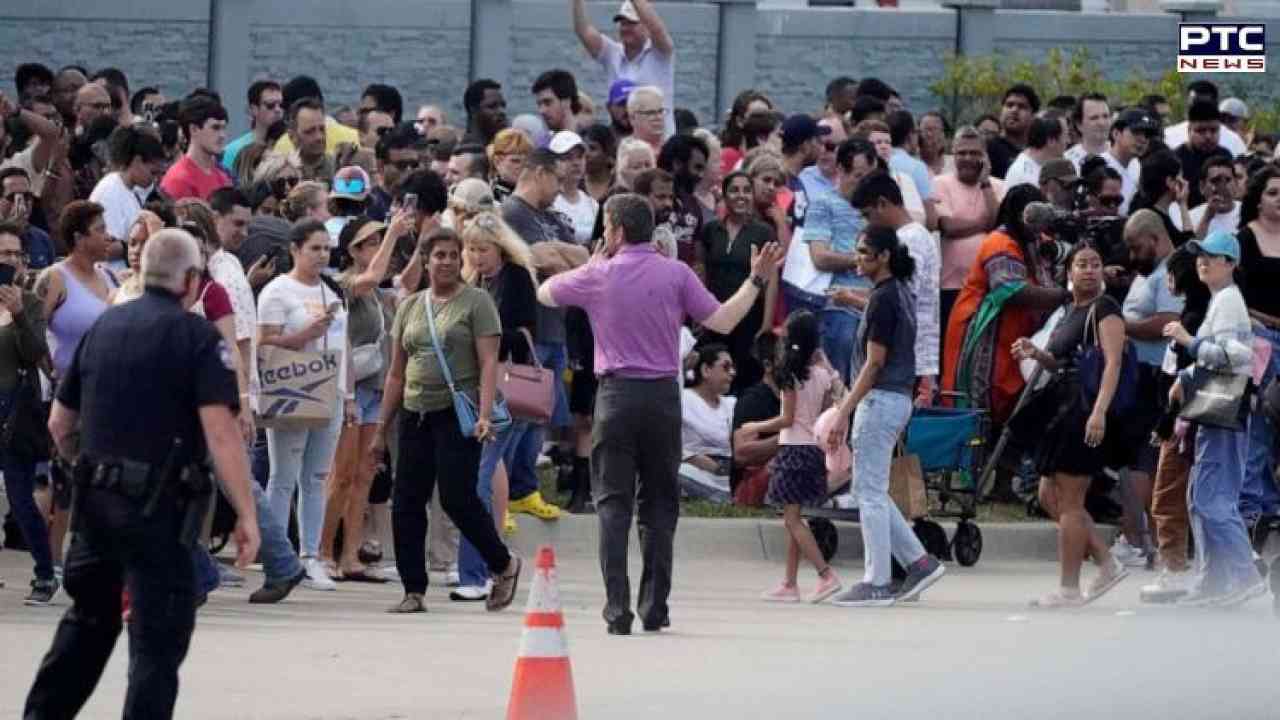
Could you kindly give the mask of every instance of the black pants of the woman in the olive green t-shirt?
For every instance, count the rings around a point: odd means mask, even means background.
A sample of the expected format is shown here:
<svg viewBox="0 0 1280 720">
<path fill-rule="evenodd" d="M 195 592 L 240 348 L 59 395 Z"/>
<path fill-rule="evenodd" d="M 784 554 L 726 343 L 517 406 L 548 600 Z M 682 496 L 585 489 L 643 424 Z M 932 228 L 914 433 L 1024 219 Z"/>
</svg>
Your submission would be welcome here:
<svg viewBox="0 0 1280 720">
<path fill-rule="evenodd" d="M 480 442 L 462 437 L 453 407 L 435 413 L 401 413 L 399 460 L 392 502 L 396 568 L 406 593 L 426 592 L 426 506 L 436 478 L 440 507 L 484 557 L 493 574 L 511 562 L 493 516 L 476 495 Z"/>
</svg>

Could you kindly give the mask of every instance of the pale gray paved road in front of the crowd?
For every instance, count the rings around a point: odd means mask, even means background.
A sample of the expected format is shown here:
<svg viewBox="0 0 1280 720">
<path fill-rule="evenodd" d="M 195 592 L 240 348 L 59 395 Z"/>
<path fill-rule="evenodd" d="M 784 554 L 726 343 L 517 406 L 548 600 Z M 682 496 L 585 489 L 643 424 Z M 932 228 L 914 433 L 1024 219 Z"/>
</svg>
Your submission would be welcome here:
<svg viewBox="0 0 1280 720">
<path fill-rule="evenodd" d="M 562 559 L 561 589 L 584 719 L 892 717 L 1164 720 L 1280 717 L 1280 620 L 1271 600 L 1236 611 L 1143 607 L 1137 573 L 1096 605 L 1034 611 L 1055 566 L 979 564 L 919 603 L 768 606 L 781 568 L 677 559 L 669 632 L 609 637 L 594 557 Z M 846 584 L 854 568 L 844 569 Z M 0 719 L 17 719 L 55 609 L 22 606 L 29 561 L 0 553 Z M 637 582 L 639 574 L 634 575 Z M 526 577 L 527 580 L 527 577 Z M 178 717 L 500 719 L 529 583 L 503 614 L 452 603 L 393 616 L 398 585 L 300 588 L 252 607 L 250 585 L 201 610 Z M 813 582 L 812 573 L 801 584 Z M 639 624 L 636 625 L 639 632 Z M 119 717 L 127 641 L 82 717 Z"/>
</svg>

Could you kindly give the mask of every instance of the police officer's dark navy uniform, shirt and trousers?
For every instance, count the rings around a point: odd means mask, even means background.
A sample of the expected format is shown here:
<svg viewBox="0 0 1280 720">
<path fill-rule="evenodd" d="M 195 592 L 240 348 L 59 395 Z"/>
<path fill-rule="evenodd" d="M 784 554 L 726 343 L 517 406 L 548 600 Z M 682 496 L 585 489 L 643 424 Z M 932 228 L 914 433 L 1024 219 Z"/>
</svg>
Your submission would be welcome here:
<svg viewBox="0 0 1280 720">
<path fill-rule="evenodd" d="M 59 402 L 79 411 L 76 475 L 86 483 L 76 488 L 67 556 L 65 587 L 76 602 L 41 662 L 26 720 L 73 717 L 88 700 L 120 634 L 124 584 L 132 602 L 124 717 L 173 716 L 196 609 L 191 548 L 179 542 L 183 505 L 169 469 L 205 457 L 200 407 L 238 411 L 229 354 L 207 320 L 156 288 L 106 310 L 81 342 L 58 391 Z M 175 439 L 184 450 L 177 461 L 168 459 Z M 150 466 L 147 483 L 165 483 L 157 500 L 155 486 L 138 487 L 136 464 Z M 134 482 L 122 480 L 122 466 L 134 470 Z"/>
</svg>

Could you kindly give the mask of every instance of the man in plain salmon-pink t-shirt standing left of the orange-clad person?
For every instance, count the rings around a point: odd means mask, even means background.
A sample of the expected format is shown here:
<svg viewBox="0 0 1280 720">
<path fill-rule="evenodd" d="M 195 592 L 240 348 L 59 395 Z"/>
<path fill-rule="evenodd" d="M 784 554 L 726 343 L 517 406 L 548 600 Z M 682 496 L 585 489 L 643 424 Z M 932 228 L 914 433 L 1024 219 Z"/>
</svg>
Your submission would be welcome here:
<svg viewBox="0 0 1280 720">
<path fill-rule="evenodd" d="M 991 160 L 982 133 L 973 127 L 956 131 L 951 142 L 955 173 L 933 179 L 938 234 L 942 237 L 942 292 L 940 325 L 947 327 L 951 306 L 960 296 L 964 278 L 978 259 L 982 240 L 996 227 L 1005 184 L 991 177 Z"/>
</svg>

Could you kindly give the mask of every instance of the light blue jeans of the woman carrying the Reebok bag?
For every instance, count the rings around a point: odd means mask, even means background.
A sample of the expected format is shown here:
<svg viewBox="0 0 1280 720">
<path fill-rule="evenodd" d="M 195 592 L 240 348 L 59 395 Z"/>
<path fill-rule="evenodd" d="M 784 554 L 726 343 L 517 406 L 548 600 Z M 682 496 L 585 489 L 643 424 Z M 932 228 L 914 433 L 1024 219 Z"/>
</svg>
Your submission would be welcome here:
<svg viewBox="0 0 1280 720">
<path fill-rule="evenodd" d="M 298 536 L 303 557 L 320 552 L 324 524 L 324 483 L 333 465 L 333 454 L 342 432 L 342 406 L 334 407 L 329 425 L 302 430 L 266 430 L 266 450 L 271 462 L 266 497 L 271 516 L 289 527 L 289 502 L 298 489 Z"/>
</svg>

